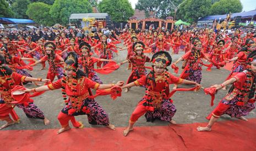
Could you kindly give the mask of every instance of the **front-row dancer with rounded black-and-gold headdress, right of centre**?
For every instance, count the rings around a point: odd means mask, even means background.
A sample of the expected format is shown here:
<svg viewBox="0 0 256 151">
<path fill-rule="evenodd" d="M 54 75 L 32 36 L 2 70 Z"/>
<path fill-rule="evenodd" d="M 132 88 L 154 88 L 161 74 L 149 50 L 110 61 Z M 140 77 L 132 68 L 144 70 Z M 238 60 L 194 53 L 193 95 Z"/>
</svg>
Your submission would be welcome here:
<svg viewBox="0 0 256 151">
<path fill-rule="evenodd" d="M 122 86 L 123 89 L 139 85 L 146 86 L 146 94 L 134 109 L 129 120 L 129 126 L 123 131 L 124 136 L 127 136 L 129 131 L 133 130 L 134 123 L 145 113 L 147 121 L 154 121 L 158 118 L 176 124 L 172 120 L 173 115 L 176 113 L 176 108 L 171 98 L 168 98 L 170 84 L 184 83 L 201 86 L 196 82 L 177 78 L 167 72 L 167 66 L 171 65 L 172 58 L 166 51 L 155 53 L 151 62 L 153 69 L 149 74 L 143 75 L 135 82 Z"/>
</svg>

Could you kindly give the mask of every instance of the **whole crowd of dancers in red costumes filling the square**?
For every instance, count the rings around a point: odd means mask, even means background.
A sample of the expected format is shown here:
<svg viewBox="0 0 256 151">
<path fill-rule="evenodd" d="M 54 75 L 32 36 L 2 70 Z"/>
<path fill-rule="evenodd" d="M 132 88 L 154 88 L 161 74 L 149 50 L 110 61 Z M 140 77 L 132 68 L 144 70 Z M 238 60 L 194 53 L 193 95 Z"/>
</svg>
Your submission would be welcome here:
<svg viewBox="0 0 256 151">
<path fill-rule="evenodd" d="M 171 96 L 180 90 L 199 90 L 202 66 L 219 69 L 232 61 L 233 68 L 225 82 L 205 88 L 205 92 L 214 95 L 217 90 L 225 89 L 227 85 L 232 84 L 227 95 L 207 117 L 210 120 L 209 124 L 205 127 L 199 126 L 197 130 L 210 131 L 223 114 L 247 120 L 244 116 L 255 108 L 256 44 L 249 31 L 243 39 L 239 34 L 239 30 L 228 35 L 205 28 L 183 33 L 175 31 L 172 34 L 161 29 L 148 33 L 127 30 L 119 36 L 115 33 L 99 33 L 97 35 L 100 37 L 97 38 L 88 34 L 82 38 L 78 34 L 74 39 L 66 38 L 63 32 L 53 41 L 40 38 L 37 42 L 31 42 L 31 36 L 25 39 L 20 36 L 18 41 L 3 36 L 0 44 L 0 119 L 6 121 L 6 124 L 0 129 L 18 123 L 19 117 L 14 111 L 15 106 L 23 109 L 27 117 L 43 119 L 46 125 L 49 124 L 50 120 L 30 97 L 41 95 L 47 90 L 62 89 L 65 105 L 58 114 L 62 126 L 58 133 L 70 129 L 69 120 L 74 127 L 83 127 L 80 121 L 75 120 L 75 116 L 85 114 L 88 115 L 90 124 L 104 125 L 115 130 L 115 125 L 110 124 L 108 114 L 95 101 L 95 97 L 100 91 L 111 89 L 111 92 L 118 94 L 122 89 L 128 92 L 133 86 L 144 88 L 145 95 L 130 116 L 129 125 L 123 131 L 124 136 L 133 130 L 134 123 L 144 114 L 147 121 L 160 119 L 176 124 L 172 119 L 176 107 Z M 116 45 L 122 40 L 123 48 Z M 170 47 L 173 50 L 172 54 L 177 54 L 183 49 L 186 52 L 172 63 L 172 57 L 168 53 Z M 118 55 L 117 48 L 127 50 L 126 60 L 119 63 L 114 61 L 114 54 Z M 145 55 L 146 53 L 153 54 L 151 59 Z M 205 64 L 204 59 L 210 64 Z M 49 65 L 46 79 L 32 78 L 31 74 L 25 71 L 32 70 L 38 63 L 41 63 L 44 69 L 46 61 Z M 167 67 L 171 65 L 177 73 L 177 63 L 180 61 L 184 61 L 183 71 L 179 77 L 175 77 L 168 72 Z M 132 69 L 126 84 L 122 81 L 116 84 L 103 84 L 96 73 L 104 71 L 105 74 L 110 74 L 126 62 L 129 63 L 128 68 Z M 146 62 L 151 62 L 151 67 L 146 67 Z M 94 68 L 95 63 L 97 68 Z M 146 68 L 150 69 L 149 73 Z M 54 81 L 56 76 L 58 80 Z M 40 82 L 46 84 L 27 89 L 24 85 L 28 82 L 35 82 L 36 85 L 40 85 Z M 172 91 L 169 89 L 171 84 L 175 84 Z M 194 87 L 178 88 L 180 84 Z M 96 95 L 91 89 L 96 90 Z"/>
</svg>

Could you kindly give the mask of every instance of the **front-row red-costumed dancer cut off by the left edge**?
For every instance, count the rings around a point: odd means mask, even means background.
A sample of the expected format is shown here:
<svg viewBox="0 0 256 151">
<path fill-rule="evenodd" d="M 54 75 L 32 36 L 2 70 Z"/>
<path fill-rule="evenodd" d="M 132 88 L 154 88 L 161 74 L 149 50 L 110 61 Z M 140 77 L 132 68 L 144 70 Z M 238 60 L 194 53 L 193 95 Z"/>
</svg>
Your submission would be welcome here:
<svg viewBox="0 0 256 151">
<path fill-rule="evenodd" d="M 48 79 L 26 77 L 19 73 L 13 72 L 8 66 L 4 66 L 4 57 L 0 55 L 0 120 L 5 120 L 7 123 L 2 125 L 0 129 L 4 129 L 9 125 L 18 123 L 19 117 L 13 111 L 15 106 L 23 109 L 24 113 L 28 118 L 42 119 L 45 125 L 50 123 L 41 109 L 39 109 L 32 100 L 28 100 L 28 103 L 13 103 L 16 100 L 11 95 L 12 89 L 15 85 L 22 85 L 22 82 L 49 82 Z M 9 114 L 12 115 L 13 119 L 10 118 Z"/>
</svg>

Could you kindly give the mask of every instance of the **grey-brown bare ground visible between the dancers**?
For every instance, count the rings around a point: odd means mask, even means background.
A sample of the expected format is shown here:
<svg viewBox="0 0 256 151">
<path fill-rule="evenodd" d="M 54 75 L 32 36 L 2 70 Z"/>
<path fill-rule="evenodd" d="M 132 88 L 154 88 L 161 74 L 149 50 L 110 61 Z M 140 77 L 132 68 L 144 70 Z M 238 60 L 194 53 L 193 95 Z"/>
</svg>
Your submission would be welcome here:
<svg viewBox="0 0 256 151">
<path fill-rule="evenodd" d="M 178 55 L 172 55 L 173 61 L 176 61 L 179 57 L 183 55 L 183 51 Z M 127 51 L 123 50 L 119 52 L 118 56 L 115 56 L 116 62 L 121 62 L 126 59 Z M 151 57 L 151 55 L 149 55 Z M 47 64 L 47 63 L 46 63 Z M 178 67 L 181 68 L 182 62 L 178 63 Z M 151 66 L 151 63 L 147 63 L 146 66 Z M 127 70 L 128 64 L 124 64 L 117 71 L 114 71 L 108 75 L 98 74 L 101 80 L 105 84 L 116 83 L 118 80 L 123 80 L 126 82 L 130 70 Z M 33 77 L 42 77 L 46 78 L 47 69 L 40 71 L 41 65 L 37 65 L 34 71 L 29 71 Z M 174 75 L 177 75 L 173 72 L 173 69 L 169 68 L 169 72 Z M 178 75 L 181 73 L 179 70 Z M 224 82 L 227 77 L 229 71 L 226 69 L 213 69 L 213 71 L 208 72 L 206 68 L 203 69 L 203 79 L 201 84 L 204 88 L 208 88 L 213 84 L 220 84 Z M 177 75 L 177 76 L 178 76 Z M 27 88 L 34 88 L 34 84 L 27 84 Z M 173 85 L 170 85 L 170 90 Z M 187 85 L 181 85 L 180 87 L 189 88 Z M 129 92 L 122 92 L 122 97 L 118 97 L 115 101 L 111 100 L 110 96 L 99 96 L 96 97 L 96 101 L 105 109 L 110 117 L 110 122 L 117 127 L 127 126 L 130 114 L 133 112 L 133 109 L 136 107 L 137 103 L 143 97 L 145 92 L 145 88 L 141 87 L 133 87 Z M 225 96 L 227 91 L 219 91 L 215 97 L 215 104 L 221 100 L 222 97 Z M 47 91 L 45 94 L 34 97 L 34 103 L 45 113 L 45 116 L 50 119 L 50 125 L 43 125 L 43 121 L 39 119 L 29 119 L 26 117 L 24 112 L 16 107 L 15 111 L 20 117 L 20 123 L 7 127 L 4 130 L 25 130 L 25 129 L 56 129 L 60 127 L 57 115 L 61 111 L 64 106 L 63 97 L 61 94 L 61 89 L 54 91 Z M 173 117 L 177 123 L 198 123 L 198 122 L 206 122 L 205 117 L 214 109 L 214 107 L 210 106 L 210 96 L 206 96 L 203 90 L 198 92 L 186 91 L 186 92 L 176 92 L 173 95 L 172 100 L 175 103 L 177 108 L 177 112 Z M 255 110 L 250 112 L 248 117 L 255 117 Z M 88 123 L 86 115 L 80 115 L 76 117 L 78 121 L 82 121 L 85 127 L 97 127 L 94 125 L 90 125 Z M 230 117 L 224 115 L 220 118 L 220 120 L 231 120 Z M 0 121 L 0 125 L 4 124 L 3 121 Z M 167 122 L 155 120 L 154 123 L 146 122 L 144 116 L 141 117 L 135 126 L 159 126 L 159 125 L 167 125 Z M 71 124 L 70 124 L 71 125 Z"/>
</svg>

